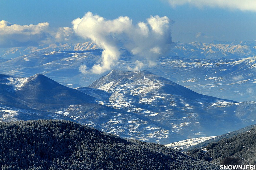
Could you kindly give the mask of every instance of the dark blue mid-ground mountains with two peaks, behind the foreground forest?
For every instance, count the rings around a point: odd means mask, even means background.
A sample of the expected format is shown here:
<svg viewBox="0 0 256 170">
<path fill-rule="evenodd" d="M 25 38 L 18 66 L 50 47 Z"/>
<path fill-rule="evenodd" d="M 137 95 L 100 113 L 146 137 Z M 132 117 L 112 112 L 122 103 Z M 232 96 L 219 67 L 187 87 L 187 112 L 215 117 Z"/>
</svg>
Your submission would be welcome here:
<svg viewBox="0 0 256 170">
<path fill-rule="evenodd" d="M 120 137 L 168 144 L 221 135 L 256 120 L 255 102 L 201 95 L 142 70 L 112 70 L 76 89 L 42 74 L 0 78 L 2 121 L 72 120 Z"/>
</svg>

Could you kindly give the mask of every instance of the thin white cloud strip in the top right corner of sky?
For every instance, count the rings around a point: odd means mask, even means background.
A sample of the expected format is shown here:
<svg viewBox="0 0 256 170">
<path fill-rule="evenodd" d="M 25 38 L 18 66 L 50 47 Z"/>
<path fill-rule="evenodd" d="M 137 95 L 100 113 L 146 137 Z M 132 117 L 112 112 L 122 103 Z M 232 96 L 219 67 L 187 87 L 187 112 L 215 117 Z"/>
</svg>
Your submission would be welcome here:
<svg viewBox="0 0 256 170">
<path fill-rule="evenodd" d="M 200 8 L 208 6 L 256 12 L 255 0 L 168 0 L 168 2 L 172 7 L 189 4 Z"/>
</svg>

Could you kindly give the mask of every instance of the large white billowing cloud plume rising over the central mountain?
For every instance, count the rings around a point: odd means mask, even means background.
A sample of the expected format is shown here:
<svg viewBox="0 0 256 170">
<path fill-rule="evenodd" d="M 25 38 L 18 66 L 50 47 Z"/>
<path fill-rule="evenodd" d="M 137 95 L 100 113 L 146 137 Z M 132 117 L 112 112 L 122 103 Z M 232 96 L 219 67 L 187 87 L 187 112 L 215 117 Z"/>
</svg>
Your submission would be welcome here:
<svg viewBox="0 0 256 170">
<path fill-rule="evenodd" d="M 105 20 L 103 17 L 87 12 L 83 18 L 72 21 L 74 31 L 91 39 L 103 49 L 102 61 L 91 69 L 93 73 L 103 73 L 115 65 L 121 55 L 120 46 L 134 56 L 146 60 L 150 65 L 169 52 L 171 41 L 171 20 L 168 17 L 151 16 L 147 23 L 132 23 L 129 17 Z M 139 69 L 143 64 L 136 61 Z M 132 68 L 129 68 L 132 69 Z"/>
</svg>

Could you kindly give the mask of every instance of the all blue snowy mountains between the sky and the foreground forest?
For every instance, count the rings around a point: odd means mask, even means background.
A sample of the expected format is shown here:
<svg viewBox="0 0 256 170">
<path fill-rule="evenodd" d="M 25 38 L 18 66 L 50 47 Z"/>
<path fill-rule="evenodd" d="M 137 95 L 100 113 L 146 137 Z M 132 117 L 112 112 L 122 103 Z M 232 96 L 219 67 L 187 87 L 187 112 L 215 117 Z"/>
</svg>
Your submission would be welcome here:
<svg viewBox="0 0 256 170">
<path fill-rule="evenodd" d="M 100 64 L 90 42 L 5 49 L 0 120 L 71 120 L 161 144 L 221 135 L 255 124 L 255 46 L 175 42 L 148 71 L 130 72 L 134 56 L 122 49 L 106 75 L 81 69 Z"/>
</svg>

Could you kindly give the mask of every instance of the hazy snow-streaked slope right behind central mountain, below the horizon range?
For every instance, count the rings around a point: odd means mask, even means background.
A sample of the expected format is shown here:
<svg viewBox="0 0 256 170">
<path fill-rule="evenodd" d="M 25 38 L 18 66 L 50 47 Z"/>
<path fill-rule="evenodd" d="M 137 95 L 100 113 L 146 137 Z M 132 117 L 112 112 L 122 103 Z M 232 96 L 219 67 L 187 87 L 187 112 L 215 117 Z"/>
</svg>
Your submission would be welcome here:
<svg viewBox="0 0 256 170">
<path fill-rule="evenodd" d="M 151 71 L 191 90 L 236 101 L 255 101 L 256 57 L 185 59 L 165 57 Z M 159 69 L 162 68 L 162 69 Z"/>
</svg>

